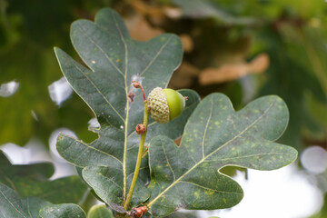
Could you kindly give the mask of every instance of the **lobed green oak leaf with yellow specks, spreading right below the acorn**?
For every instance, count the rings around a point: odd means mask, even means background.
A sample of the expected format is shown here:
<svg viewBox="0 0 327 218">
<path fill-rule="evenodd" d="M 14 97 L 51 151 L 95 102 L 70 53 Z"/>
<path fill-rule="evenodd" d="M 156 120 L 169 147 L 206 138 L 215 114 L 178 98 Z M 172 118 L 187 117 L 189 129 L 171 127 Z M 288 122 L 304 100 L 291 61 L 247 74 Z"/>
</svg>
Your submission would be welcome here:
<svg viewBox="0 0 327 218">
<path fill-rule="evenodd" d="M 239 112 L 223 94 L 211 94 L 198 105 L 176 146 L 165 136 L 149 146 L 154 216 L 178 208 L 213 210 L 232 207 L 243 198 L 240 185 L 219 173 L 225 165 L 273 170 L 292 163 L 296 150 L 272 143 L 288 124 L 282 99 L 259 98 Z"/>
</svg>

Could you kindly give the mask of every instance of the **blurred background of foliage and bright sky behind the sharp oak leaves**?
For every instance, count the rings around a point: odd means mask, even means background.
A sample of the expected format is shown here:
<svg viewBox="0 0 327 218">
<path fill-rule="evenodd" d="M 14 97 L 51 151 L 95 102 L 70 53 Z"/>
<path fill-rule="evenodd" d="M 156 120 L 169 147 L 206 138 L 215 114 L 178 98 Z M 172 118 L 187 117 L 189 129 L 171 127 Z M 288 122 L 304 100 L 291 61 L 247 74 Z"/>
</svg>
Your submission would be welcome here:
<svg viewBox="0 0 327 218">
<path fill-rule="evenodd" d="M 278 142 L 298 150 L 297 162 L 274 172 L 224 169 L 243 186 L 243 202 L 199 217 L 327 217 L 324 0 L 0 0 L 0 149 L 12 163 L 52 161 L 55 178 L 74 173 L 55 153 L 56 135 L 97 137 L 88 131 L 94 114 L 66 83 L 53 48 L 80 60 L 71 23 L 108 6 L 136 40 L 181 37 L 171 88 L 227 94 L 236 110 L 267 94 L 289 107 Z"/>
</svg>

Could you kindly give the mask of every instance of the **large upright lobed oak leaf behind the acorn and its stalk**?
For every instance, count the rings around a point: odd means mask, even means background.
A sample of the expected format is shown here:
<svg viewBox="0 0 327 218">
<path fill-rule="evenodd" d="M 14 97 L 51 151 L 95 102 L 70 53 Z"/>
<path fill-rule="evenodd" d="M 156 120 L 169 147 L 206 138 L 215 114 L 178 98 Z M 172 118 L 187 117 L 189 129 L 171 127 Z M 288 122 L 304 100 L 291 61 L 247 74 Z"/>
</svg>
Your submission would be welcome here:
<svg viewBox="0 0 327 218">
<path fill-rule="evenodd" d="M 143 81 L 145 94 L 149 94 L 154 87 L 166 87 L 173 70 L 181 63 L 182 44 L 176 35 L 169 34 L 159 35 L 147 42 L 134 41 L 123 20 L 108 8 L 96 14 L 94 23 L 75 21 L 71 27 L 71 39 L 75 50 L 89 68 L 78 64 L 59 48 L 55 48 L 55 54 L 67 81 L 94 111 L 101 128 L 94 129 L 99 138 L 91 144 L 60 134 L 57 150 L 76 166 L 101 165 L 100 171 L 96 167 L 86 168 L 84 179 L 95 193 L 105 195 L 105 203 L 113 208 L 122 205 L 128 193 L 140 140 L 134 128 L 143 122 L 143 94 L 131 86 L 131 81 Z M 128 97 L 131 92 L 135 94 L 134 102 Z M 155 124 L 150 120 L 151 130 L 146 143 L 157 133 L 162 132 L 171 138 L 183 133 L 183 126 L 198 104 L 199 96 L 188 90 L 182 91 L 182 94 L 191 96 L 187 101 L 187 110 L 172 124 Z M 167 127 L 171 127 L 170 131 L 166 130 Z M 110 175 L 98 174 L 93 178 L 87 174 L 103 170 Z M 141 186 L 149 180 L 148 170 L 146 156 L 138 176 Z M 104 178 L 106 175 L 109 177 Z M 117 184 L 120 186 L 119 192 L 115 189 Z M 114 193 L 109 190 L 114 190 Z M 146 189 L 144 192 L 142 196 L 134 194 L 139 200 L 134 201 L 132 206 L 147 200 L 149 193 L 146 193 Z"/>
</svg>

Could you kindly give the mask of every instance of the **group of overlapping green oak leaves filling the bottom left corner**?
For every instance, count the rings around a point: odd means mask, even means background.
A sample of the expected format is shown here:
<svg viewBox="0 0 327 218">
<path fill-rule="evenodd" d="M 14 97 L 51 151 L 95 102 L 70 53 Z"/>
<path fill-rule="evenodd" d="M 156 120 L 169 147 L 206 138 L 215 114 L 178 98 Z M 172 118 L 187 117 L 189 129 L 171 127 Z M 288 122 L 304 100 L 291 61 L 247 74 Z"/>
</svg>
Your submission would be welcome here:
<svg viewBox="0 0 327 218">
<path fill-rule="evenodd" d="M 87 186 L 77 175 L 49 180 L 53 173 L 54 166 L 51 163 L 12 165 L 1 152 L 1 217 L 56 217 L 45 215 L 46 210 L 51 209 L 53 203 L 61 203 L 56 207 L 72 207 L 77 208 L 74 210 L 82 211 L 73 203 L 80 203 L 84 193 L 88 192 Z M 39 215 L 43 208 L 45 212 Z"/>
</svg>

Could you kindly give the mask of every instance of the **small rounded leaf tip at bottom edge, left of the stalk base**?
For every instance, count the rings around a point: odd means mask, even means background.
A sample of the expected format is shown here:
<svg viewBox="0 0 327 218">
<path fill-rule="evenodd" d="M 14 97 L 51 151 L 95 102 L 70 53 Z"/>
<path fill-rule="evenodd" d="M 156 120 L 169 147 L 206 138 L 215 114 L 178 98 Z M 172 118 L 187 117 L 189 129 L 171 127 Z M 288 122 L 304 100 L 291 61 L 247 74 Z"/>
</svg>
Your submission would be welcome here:
<svg viewBox="0 0 327 218">
<path fill-rule="evenodd" d="M 73 203 L 47 206 L 40 211 L 42 218 L 86 218 L 82 208 Z"/>
</svg>

